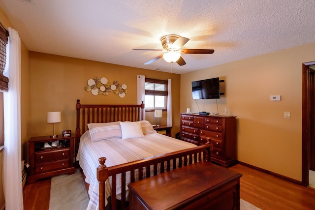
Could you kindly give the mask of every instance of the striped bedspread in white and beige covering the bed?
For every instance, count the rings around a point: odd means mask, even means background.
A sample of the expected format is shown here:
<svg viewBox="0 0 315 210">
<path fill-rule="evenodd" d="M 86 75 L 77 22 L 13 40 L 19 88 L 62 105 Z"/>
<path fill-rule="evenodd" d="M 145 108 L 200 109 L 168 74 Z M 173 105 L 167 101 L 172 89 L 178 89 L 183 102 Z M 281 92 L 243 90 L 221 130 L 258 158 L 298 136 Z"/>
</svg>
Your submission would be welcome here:
<svg viewBox="0 0 315 210">
<path fill-rule="evenodd" d="M 76 157 L 86 176 L 85 181 L 90 184 L 88 210 L 98 209 L 96 168 L 99 165 L 99 157 L 106 157 L 105 165 L 111 167 L 147 157 L 196 147 L 193 144 L 158 133 L 147 134 L 141 138 L 99 142 L 91 142 L 89 138 L 90 134 L 88 131 L 81 136 L 79 151 Z M 106 184 L 106 187 L 108 188 L 110 185 Z M 120 192 L 121 186 L 117 184 L 117 198 L 119 198 Z"/>
</svg>

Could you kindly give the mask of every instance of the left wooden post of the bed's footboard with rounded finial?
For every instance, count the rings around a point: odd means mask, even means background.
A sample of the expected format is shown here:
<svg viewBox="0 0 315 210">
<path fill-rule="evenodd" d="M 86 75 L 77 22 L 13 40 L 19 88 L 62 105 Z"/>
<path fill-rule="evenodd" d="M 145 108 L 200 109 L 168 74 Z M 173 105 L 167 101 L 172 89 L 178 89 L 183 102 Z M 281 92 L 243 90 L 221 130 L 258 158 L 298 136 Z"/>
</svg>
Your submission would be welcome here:
<svg viewBox="0 0 315 210">
<path fill-rule="evenodd" d="M 108 178 L 108 169 L 105 165 L 106 157 L 98 158 L 96 177 L 98 180 L 98 209 L 105 210 L 105 181 Z"/>
</svg>

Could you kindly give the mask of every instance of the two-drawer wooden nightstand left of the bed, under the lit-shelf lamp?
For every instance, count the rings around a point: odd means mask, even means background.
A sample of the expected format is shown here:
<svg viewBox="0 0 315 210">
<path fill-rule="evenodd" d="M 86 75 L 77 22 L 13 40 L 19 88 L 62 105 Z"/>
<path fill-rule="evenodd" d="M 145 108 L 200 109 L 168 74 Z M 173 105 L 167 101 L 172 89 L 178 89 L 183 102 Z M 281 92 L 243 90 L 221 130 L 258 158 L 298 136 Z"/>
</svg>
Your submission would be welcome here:
<svg viewBox="0 0 315 210">
<path fill-rule="evenodd" d="M 73 150 L 75 135 L 50 138 L 37 136 L 29 140 L 30 176 L 28 183 L 60 174 L 73 174 Z"/>
</svg>

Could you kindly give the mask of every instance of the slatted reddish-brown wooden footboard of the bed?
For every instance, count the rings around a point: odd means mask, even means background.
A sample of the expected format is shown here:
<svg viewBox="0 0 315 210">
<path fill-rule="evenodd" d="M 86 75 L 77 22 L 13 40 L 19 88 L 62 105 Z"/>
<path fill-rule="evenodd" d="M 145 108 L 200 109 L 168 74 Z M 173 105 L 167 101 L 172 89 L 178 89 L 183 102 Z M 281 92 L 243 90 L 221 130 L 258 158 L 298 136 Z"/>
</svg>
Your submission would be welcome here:
<svg viewBox="0 0 315 210">
<path fill-rule="evenodd" d="M 200 161 L 209 161 L 211 160 L 210 151 L 213 150 L 212 143 L 208 142 L 206 145 L 198 146 L 195 148 L 181 150 L 176 152 L 171 152 L 164 155 L 158 155 L 153 158 L 147 158 L 143 160 L 133 161 L 117 166 L 112 166 L 107 168 L 105 165 L 106 158 L 101 157 L 98 159 L 100 165 L 97 168 L 97 180 L 99 182 L 99 209 L 105 209 L 105 181 L 108 177 L 112 177 L 112 185 L 111 185 L 111 209 L 116 209 L 116 175 L 121 174 L 121 185 L 126 186 L 126 173 L 130 173 L 130 181 L 135 181 L 135 171 L 139 172 L 139 180 L 144 178 L 149 178 L 150 168 L 153 166 L 153 176 L 164 173 L 166 171 L 170 171 L 171 169 L 180 168 L 186 166 L 191 163 L 197 162 L 197 159 Z M 201 155 L 203 153 L 203 157 Z M 183 161 L 181 161 L 183 160 Z M 176 163 L 177 164 L 172 164 Z M 184 162 L 184 164 L 182 164 Z M 160 165 L 160 167 L 158 167 Z M 143 168 L 146 170 L 146 174 L 143 174 Z M 126 189 L 122 187 L 121 192 L 121 209 L 127 209 L 128 205 L 126 202 Z"/>
</svg>

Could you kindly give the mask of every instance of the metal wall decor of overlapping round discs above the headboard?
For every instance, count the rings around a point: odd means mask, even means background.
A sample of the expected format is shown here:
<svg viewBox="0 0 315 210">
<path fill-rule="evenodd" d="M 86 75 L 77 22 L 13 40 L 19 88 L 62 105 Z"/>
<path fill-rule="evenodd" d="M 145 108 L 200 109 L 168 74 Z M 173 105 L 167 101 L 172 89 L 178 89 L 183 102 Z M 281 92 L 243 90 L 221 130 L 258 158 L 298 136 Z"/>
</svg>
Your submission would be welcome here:
<svg viewBox="0 0 315 210">
<path fill-rule="evenodd" d="M 118 81 L 110 83 L 106 77 L 89 79 L 85 90 L 91 91 L 93 95 L 108 95 L 110 92 L 114 92 L 121 98 L 125 97 L 128 92 L 126 84 L 119 84 Z"/>
</svg>

